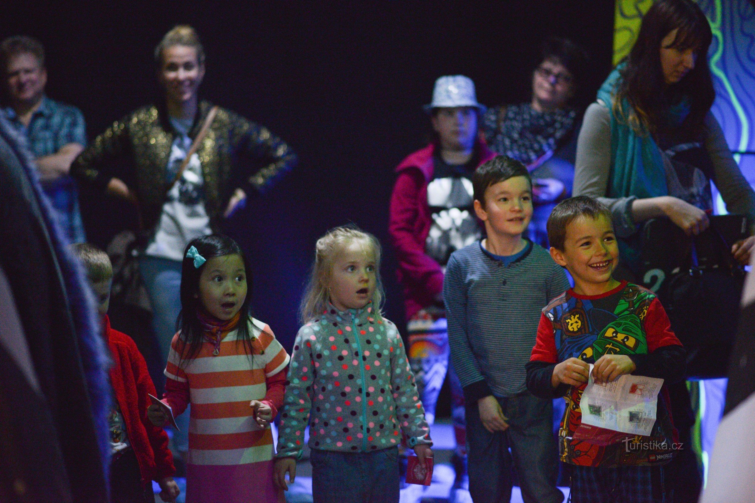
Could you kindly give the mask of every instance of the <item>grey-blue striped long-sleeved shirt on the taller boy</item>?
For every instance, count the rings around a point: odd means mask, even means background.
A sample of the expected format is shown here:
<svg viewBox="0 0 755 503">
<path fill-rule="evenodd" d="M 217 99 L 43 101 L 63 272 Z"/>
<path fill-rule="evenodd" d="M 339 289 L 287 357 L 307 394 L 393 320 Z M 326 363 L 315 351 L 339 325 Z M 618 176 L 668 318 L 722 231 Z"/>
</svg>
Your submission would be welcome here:
<svg viewBox="0 0 755 503">
<path fill-rule="evenodd" d="M 448 341 L 467 403 L 526 390 L 542 309 L 569 289 L 564 270 L 537 244 L 505 265 L 478 241 L 448 260 L 443 300 Z"/>
</svg>

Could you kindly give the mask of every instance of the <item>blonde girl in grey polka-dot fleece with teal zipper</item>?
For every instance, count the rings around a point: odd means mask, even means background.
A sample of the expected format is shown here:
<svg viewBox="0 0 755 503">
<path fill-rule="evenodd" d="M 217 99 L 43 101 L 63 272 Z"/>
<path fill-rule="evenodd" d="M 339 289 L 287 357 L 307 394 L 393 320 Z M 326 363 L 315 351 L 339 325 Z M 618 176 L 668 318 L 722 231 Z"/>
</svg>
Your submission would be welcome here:
<svg viewBox="0 0 755 503">
<path fill-rule="evenodd" d="M 312 491 L 320 501 L 399 501 L 402 434 L 432 456 L 414 376 L 396 325 L 383 317 L 381 246 L 358 228 L 317 241 L 291 355 L 275 481 L 287 489 L 310 427 Z"/>
</svg>

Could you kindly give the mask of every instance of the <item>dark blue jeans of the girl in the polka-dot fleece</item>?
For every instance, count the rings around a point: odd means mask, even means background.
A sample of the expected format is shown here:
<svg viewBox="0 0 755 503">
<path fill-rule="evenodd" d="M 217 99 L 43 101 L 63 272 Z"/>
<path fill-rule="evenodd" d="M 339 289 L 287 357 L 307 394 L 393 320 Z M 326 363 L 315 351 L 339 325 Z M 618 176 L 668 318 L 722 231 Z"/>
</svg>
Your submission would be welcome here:
<svg viewBox="0 0 755 503">
<path fill-rule="evenodd" d="M 373 452 L 312 449 L 314 503 L 398 503 L 399 448 Z"/>
</svg>

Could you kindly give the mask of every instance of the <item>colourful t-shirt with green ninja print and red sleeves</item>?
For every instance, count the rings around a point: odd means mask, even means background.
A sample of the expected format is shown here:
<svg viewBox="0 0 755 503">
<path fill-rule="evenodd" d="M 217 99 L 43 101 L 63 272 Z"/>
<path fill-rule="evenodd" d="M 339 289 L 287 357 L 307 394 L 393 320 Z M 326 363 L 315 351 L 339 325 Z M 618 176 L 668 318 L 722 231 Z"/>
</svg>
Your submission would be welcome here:
<svg viewBox="0 0 755 503">
<path fill-rule="evenodd" d="M 671 331 L 661 301 L 650 290 L 621 283 L 600 296 L 567 290 L 543 309 L 532 360 L 557 363 L 578 358 L 595 363 L 604 354 L 649 354 L 667 345 L 681 345 Z M 667 388 L 658 394 L 658 416 L 649 437 L 627 434 L 625 442 L 599 446 L 575 440 L 582 423 L 580 401 L 587 384 L 571 386 L 559 428 L 563 462 L 581 466 L 662 465 L 673 457 L 678 441 L 670 416 Z"/>
</svg>

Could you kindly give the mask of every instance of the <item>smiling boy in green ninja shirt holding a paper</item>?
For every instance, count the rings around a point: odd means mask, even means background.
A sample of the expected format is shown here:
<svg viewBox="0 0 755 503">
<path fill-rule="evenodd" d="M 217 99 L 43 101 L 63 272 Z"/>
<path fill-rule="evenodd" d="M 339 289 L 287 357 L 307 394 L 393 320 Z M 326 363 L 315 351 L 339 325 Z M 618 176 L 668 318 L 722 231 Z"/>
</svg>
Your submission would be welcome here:
<svg viewBox="0 0 755 503">
<path fill-rule="evenodd" d="M 593 198 L 569 198 L 553 209 L 547 228 L 550 255 L 575 287 L 543 309 L 527 388 L 566 401 L 559 450 L 573 465 L 572 501 L 661 501 L 661 465 L 678 443 L 665 385 L 683 379 L 684 348 L 654 293 L 612 277 L 619 253 L 608 208 Z M 630 373 L 664 379 L 649 437 L 627 434 L 629 441 L 608 446 L 573 438 L 590 363 L 599 384 Z"/>
</svg>

